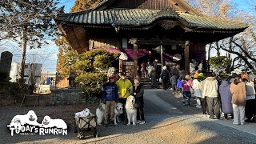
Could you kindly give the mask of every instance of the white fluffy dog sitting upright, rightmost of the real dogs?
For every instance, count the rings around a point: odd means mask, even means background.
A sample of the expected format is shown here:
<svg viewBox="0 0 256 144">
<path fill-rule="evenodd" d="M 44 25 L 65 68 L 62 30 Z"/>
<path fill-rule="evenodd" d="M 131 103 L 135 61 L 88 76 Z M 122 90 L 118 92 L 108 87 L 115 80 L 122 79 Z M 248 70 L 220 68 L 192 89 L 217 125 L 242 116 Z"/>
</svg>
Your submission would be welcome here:
<svg viewBox="0 0 256 144">
<path fill-rule="evenodd" d="M 136 119 L 137 119 L 137 109 L 134 106 L 135 104 L 135 98 L 134 96 L 130 95 L 126 99 L 126 114 L 127 114 L 127 119 L 128 123 L 127 126 L 130 126 L 130 122 L 133 122 L 133 125 L 136 125 Z"/>
</svg>

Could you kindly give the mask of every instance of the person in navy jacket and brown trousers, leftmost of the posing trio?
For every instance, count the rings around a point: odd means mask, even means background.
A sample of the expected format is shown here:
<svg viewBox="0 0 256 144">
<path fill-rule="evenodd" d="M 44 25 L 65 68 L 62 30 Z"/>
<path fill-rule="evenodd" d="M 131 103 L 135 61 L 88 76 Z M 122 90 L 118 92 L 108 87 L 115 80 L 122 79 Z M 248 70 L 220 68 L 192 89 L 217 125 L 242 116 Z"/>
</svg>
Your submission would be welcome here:
<svg viewBox="0 0 256 144">
<path fill-rule="evenodd" d="M 118 86 L 114 83 L 114 75 L 109 76 L 109 82 L 106 82 L 102 86 L 102 99 L 106 103 L 104 117 L 104 124 L 107 127 L 110 123 L 114 125 L 114 102 L 118 101 Z"/>
</svg>

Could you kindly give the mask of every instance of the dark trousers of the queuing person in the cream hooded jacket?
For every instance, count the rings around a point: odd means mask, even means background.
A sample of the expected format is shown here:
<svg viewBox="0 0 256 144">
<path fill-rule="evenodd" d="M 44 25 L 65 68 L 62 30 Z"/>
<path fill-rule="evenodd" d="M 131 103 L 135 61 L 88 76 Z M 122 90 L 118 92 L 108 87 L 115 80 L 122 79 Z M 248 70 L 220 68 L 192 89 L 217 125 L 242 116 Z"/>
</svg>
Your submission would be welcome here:
<svg viewBox="0 0 256 144">
<path fill-rule="evenodd" d="M 218 98 L 210 98 L 206 97 L 206 102 L 208 105 L 208 110 L 210 114 L 210 118 L 214 118 L 214 114 L 216 115 L 217 119 L 221 117 L 220 112 L 220 101 Z"/>
</svg>

